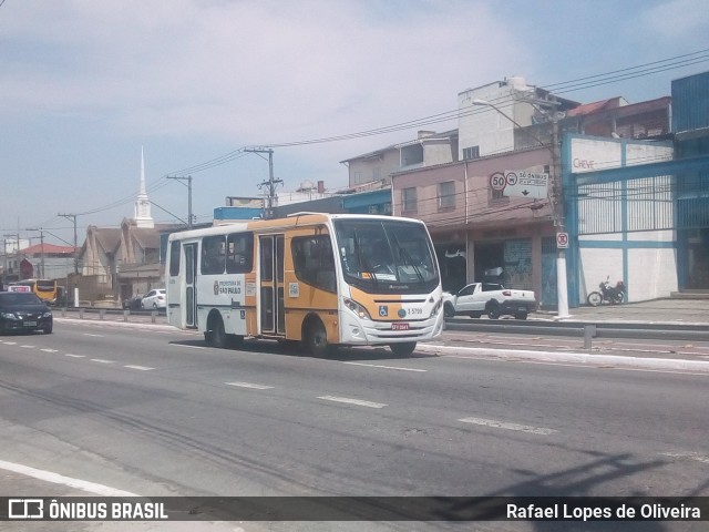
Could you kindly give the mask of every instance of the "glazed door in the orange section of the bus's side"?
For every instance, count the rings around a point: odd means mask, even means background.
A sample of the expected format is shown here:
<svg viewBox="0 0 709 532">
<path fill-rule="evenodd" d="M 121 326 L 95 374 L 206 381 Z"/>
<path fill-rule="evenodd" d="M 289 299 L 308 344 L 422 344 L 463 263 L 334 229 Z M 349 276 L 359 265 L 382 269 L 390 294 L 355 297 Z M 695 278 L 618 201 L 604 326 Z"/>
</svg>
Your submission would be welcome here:
<svg viewBox="0 0 709 532">
<path fill-rule="evenodd" d="M 259 236 L 260 332 L 285 336 L 284 235 Z"/>
</svg>

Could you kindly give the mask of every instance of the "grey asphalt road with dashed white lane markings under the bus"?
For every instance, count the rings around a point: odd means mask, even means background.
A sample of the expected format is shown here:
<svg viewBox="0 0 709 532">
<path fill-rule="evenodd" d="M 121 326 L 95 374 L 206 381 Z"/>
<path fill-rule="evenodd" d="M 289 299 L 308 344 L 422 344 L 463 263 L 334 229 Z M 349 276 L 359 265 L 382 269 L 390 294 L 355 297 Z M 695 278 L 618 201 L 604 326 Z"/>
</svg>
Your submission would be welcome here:
<svg viewBox="0 0 709 532">
<path fill-rule="evenodd" d="M 709 495 L 708 374 L 109 323 L 0 341 L 0 460 L 137 494 Z"/>
</svg>

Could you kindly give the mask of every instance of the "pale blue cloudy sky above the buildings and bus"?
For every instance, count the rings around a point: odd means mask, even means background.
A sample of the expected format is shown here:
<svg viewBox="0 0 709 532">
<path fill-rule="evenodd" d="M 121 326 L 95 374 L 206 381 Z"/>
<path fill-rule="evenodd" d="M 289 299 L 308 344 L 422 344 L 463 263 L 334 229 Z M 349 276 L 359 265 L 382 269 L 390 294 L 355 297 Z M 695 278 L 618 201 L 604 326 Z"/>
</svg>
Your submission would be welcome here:
<svg viewBox="0 0 709 532">
<path fill-rule="evenodd" d="M 89 224 L 119 226 L 142 149 L 153 217 L 186 218 L 166 176 L 188 173 L 205 222 L 268 178 L 244 146 L 453 111 L 512 75 L 579 102 L 669 95 L 709 70 L 708 29 L 706 0 L 0 0 L 0 228 L 62 244 L 58 214 L 79 215 L 80 243 Z M 340 161 L 415 134 L 275 147 L 275 175 L 342 187 Z"/>
</svg>

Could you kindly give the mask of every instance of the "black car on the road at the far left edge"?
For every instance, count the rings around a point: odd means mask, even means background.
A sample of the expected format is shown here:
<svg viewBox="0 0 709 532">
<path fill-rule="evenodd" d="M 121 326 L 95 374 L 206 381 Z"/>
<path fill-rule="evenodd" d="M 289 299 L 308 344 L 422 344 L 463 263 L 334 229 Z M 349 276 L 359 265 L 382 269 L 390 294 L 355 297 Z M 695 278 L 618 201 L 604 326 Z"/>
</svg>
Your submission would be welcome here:
<svg viewBox="0 0 709 532">
<path fill-rule="evenodd" d="M 52 332 L 52 310 L 34 294 L 0 291 L 0 334 Z"/>
</svg>

